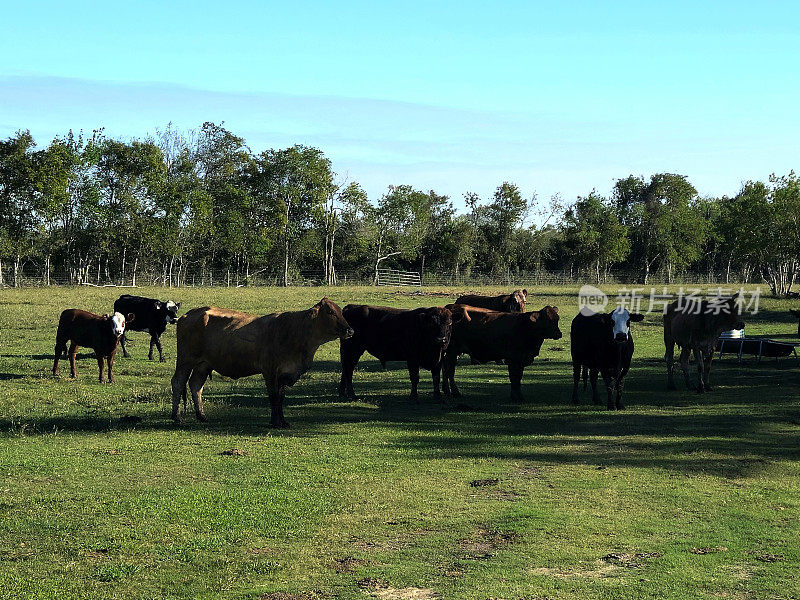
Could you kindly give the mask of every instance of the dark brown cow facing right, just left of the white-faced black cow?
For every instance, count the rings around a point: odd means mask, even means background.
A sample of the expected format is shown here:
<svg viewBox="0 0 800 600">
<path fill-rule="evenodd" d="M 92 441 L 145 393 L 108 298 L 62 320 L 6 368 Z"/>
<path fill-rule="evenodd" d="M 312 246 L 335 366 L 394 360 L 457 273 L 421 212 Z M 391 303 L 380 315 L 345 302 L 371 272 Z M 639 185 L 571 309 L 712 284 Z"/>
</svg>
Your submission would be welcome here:
<svg viewBox="0 0 800 600">
<path fill-rule="evenodd" d="M 511 381 L 511 398 L 522 402 L 522 373 L 539 356 L 544 340 L 561 338 L 558 307 L 545 306 L 532 313 L 501 313 L 485 308 L 448 304 L 453 312 L 453 335 L 444 359 L 444 393 L 460 396 L 455 382 L 459 354 L 479 363 L 505 360 Z"/>
</svg>

